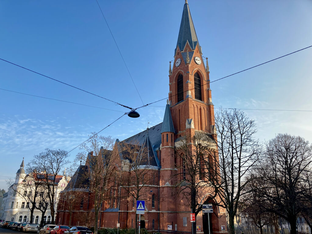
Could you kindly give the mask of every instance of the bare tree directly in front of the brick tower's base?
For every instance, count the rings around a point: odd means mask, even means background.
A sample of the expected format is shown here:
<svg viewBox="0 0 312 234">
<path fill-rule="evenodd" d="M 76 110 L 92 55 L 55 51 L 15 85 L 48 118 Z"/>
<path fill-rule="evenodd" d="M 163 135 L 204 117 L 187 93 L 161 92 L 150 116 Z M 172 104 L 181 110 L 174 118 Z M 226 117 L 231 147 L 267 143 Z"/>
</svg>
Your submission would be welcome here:
<svg viewBox="0 0 312 234">
<path fill-rule="evenodd" d="M 186 200 L 186 205 L 195 213 L 195 221 L 197 214 L 202 210 L 202 199 L 207 193 L 211 194 L 213 199 L 215 191 L 206 181 L 207 173 L 206 163 L 210 155 L 212 147 L 212 139 L 203 132 L 195 132 L 194 136 L 186 136 L 179 141 L 176 147 L 177 173 L 173 178 L 181 178 L 175 184 L 176 195 Z M 196 233 L 196 222 L 192 223 L 193 233 Z"/>
</svg>

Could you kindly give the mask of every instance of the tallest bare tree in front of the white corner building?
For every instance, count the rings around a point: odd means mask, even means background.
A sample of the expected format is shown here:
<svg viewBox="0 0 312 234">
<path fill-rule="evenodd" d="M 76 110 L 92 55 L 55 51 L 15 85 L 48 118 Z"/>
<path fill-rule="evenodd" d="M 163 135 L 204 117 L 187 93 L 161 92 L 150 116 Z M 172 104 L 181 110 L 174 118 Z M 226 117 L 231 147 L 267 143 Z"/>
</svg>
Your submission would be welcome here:
<svg viewBox="0 0 312 234">
<path fill-rule="evenodd" d="M 44 152 L 34 156 L 32 161 L 29 163 L 37 168 L 40 172 L 40 179 L 45 183 L 49 203 L 51 210 L 52 224 L 55 222 L 55 209 L 56 209 L 56 187 L 57 187 L 57 176 L 58 173 L 69 163 L 67 158 L 69 157 L 67 151 L 61 149 L 46 149 Z"/>
</svg>

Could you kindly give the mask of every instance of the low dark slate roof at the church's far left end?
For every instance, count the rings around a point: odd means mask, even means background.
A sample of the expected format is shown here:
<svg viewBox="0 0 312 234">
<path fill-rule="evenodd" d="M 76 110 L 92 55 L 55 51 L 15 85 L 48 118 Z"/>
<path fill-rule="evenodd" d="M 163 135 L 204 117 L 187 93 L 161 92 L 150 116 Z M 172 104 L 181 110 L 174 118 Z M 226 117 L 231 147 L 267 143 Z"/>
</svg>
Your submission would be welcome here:
<svg viewBox="0 0 312 234">
<path fill-rule="evenodd" d="M 75 188 L 89 188 L 90 181 L 89 178 L 86 178 L 86 171 L 88 171 L 88 166 L 80 165 L 75 174 L 71 177 L 71 180 L 68 182 L 65 190 L 72 190 Z"/>
</svg>

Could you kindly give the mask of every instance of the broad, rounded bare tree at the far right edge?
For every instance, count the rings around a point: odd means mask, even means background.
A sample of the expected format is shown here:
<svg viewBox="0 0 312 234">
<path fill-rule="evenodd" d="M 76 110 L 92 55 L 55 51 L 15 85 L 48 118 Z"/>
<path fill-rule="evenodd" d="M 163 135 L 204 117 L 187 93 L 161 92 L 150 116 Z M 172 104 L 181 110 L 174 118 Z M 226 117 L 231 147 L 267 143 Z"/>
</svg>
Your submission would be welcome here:
<svg viewBox="0 0 312 234">
<path fill-rule="evenodd" d="M 297 216 L 309 199 L 311 162 L 312 146 L 308 141 L 299 136 L 278 134 L 267 142 L 262 167 L 255 175 L 262 185 L 257 190 L 258 196 L 271 204 L 266 207 L 267 211 L 288 221 L 291 234 L 296 234 Z"/>
</svg>

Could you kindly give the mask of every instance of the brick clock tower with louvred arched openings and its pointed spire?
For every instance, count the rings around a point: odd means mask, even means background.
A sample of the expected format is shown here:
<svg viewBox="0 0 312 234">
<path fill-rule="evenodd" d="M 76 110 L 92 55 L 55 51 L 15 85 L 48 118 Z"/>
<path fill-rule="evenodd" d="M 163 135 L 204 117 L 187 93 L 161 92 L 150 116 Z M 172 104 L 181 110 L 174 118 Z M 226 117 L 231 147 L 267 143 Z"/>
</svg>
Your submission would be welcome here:
<svg viewBox="0 0 312 234">
<path fill-rule="evenodd" d="M 213 134 L 214 110 L 209 82 L 208 61 L 202 57 L 186 0 L 172 70 L 169 68 L 169 104 L 175 139 L 193 135 L 195 130 Z"/>
</svg>

